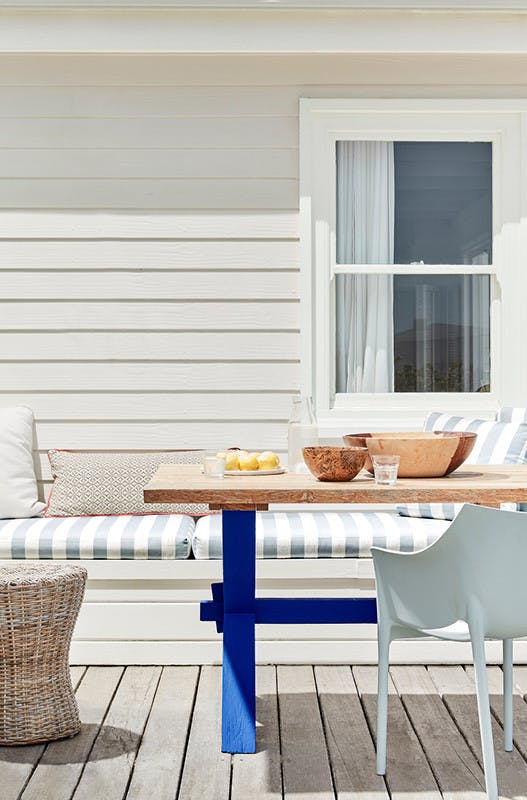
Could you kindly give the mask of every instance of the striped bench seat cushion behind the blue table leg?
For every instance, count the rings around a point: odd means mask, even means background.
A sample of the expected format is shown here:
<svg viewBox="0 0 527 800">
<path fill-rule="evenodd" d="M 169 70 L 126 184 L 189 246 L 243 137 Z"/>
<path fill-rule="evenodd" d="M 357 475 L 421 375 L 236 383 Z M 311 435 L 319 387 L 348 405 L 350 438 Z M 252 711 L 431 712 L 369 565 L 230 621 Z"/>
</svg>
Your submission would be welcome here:
<svg viewBox="0 0 527 800">
<path fill-rule="evenodd" d="M 257 558 L 369 558 L 371 547 L 421 550 L 448 522 L 368 511 L 268 511 L 256 514 Z M 196 523 L 192 550 L 197 559 L 221 558 L 221 515 Z"/>
</svg>

